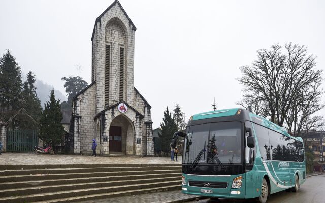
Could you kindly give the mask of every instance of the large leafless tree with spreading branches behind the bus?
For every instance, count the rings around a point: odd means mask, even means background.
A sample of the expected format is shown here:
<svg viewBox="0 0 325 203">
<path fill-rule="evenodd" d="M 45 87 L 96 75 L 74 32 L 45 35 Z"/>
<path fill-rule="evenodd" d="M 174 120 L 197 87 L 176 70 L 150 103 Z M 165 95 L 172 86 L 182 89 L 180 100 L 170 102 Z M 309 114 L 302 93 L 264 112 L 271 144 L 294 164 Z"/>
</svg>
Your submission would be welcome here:
<svg viewBox="0 0 325 203">
<path fill-rule="evenodd" d="M 282 53 L 282 47 L 275 44 L 270 50 L 259 50 L 256 61 L 240 67 L 243 75 L 237 80 L 245 94 L 237 104 L 269 116 L 297 135 L 311 125 L 309 122 L 322 119 L 313 117 L 324 107 L 320 101 L 322 71 L 315 70 L 315 56 L 308 55 L 306 47 L 289 43 L 284 49 Z"/>
</svg>

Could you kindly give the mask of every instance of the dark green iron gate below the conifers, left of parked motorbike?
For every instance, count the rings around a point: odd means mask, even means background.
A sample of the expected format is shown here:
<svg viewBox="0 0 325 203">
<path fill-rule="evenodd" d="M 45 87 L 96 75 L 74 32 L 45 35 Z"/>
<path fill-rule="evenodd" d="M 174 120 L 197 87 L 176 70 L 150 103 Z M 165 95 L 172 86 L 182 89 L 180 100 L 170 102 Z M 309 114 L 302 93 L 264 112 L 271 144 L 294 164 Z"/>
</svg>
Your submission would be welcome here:
<svg viewBox="0 0 325 203">
<path fill-rule="evenodd" d="M 10 152 L 32 152 L 38 146 L 37 130 L 10 129 L 7 131 L 7 150 Z"/>
</svg>

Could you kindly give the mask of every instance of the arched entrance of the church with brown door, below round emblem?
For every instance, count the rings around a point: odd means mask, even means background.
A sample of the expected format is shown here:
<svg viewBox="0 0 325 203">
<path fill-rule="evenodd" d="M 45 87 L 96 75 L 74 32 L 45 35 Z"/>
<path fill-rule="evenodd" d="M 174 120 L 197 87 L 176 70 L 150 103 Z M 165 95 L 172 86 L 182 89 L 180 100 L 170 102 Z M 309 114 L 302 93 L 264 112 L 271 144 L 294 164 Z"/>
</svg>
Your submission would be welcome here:
<svg viewBox="0 0 325 203">
<path fill-rule="evenodd" d="M 110 154 L 134 154 L 135 130 L 126 116 L 119 115 L 112 120 L 109 135 Z"/>
</svg>

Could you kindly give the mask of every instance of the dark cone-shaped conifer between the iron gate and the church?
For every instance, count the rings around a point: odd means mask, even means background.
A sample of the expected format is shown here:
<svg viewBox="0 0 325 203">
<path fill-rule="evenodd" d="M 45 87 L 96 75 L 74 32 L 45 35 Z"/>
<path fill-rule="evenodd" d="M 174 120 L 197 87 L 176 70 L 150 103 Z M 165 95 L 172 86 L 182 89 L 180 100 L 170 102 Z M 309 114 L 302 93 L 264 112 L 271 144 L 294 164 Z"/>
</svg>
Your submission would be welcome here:
<svg viewBox="0 0 325 203">
<path fill-rule="evenodd" d="M 39 138 L 46 144 L 56 145 L 61 142 L 65 133 L 61 124 L 63 116 L 60 100 L 55 99 L 54 89 L 49 98 L 41 115 Z"/>
</svg>

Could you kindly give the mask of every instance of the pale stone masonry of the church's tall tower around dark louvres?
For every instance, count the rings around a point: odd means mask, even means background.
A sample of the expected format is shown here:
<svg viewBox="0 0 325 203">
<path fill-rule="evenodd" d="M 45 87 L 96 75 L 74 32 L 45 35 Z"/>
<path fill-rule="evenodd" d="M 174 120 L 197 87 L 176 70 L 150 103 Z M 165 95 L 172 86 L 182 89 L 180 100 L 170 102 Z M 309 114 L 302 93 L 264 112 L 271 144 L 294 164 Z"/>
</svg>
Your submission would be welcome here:
<svg viewBox="0 0 325 203">
<path fill-rule="evenodd" d="M 118 3 L 114 3 L 114 6 L 107 11 L 100 19 L 100 21 L 96 24 L 94 30 L 94 39 L 93 43 L 95 43 L 95 69 L 96 69 L 96 81 L 97 81 L 97 112 L 100 112 L 104 109 L 105 104 L 105 45 L 106 45 L 106 26 L 110 22 L 118 22 L 120 25 L 123 25 L 126 43 L 124 47 L 125 53 L 125 67 L 124 73 L 127 73 L 124 77 L 125 84 L 125 101 L 133 106 L 133 97 L 134 97 L 134 30 L 132 25 L 129 23 L 129 20 L 125 16 L 124 12 L 118 6 Z M 114 62 L 110 67 L 119 67 L 119 55 L 111 54 L 110 61 Z M 117 63 L 116 63 L 117 62 Z M 110 72 L 111 73 L 111 72 Z M 118 89 L 119 83 L 114 80 L 119 78 L 110 78 L 110 90 Z M 110 91 L 110 92 L 111 92 Z M 113 91 L 115 92 L 115 91 Z M 116 96 L 118 94 L 110 94 L 113 95 L 114 99 L 110 99 L 110 105 L 116 104 Z"/>
</svg>

